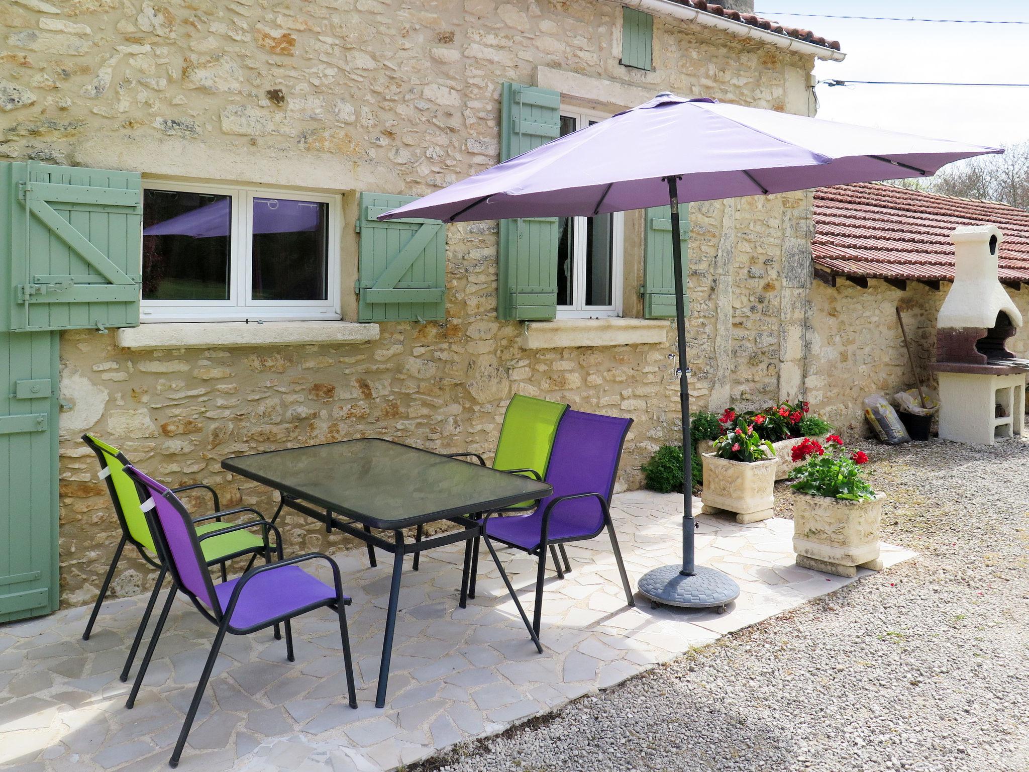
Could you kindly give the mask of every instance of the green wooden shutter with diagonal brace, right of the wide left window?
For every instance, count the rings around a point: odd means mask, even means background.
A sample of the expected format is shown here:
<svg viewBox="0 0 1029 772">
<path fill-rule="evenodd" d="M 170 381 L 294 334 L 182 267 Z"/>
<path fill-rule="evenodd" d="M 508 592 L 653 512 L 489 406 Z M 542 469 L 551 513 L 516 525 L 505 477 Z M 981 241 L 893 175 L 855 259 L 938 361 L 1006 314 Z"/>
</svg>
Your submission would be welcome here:
<svg viewBox="0 0 1029 772">
<path fill-rule="evenodd" d="M 361 194 L 357 231 L 357 320 L 446 319 L 447 229 L 439 220 L 407 217 L 379 221 L 413 196 Z"/>
</svg>

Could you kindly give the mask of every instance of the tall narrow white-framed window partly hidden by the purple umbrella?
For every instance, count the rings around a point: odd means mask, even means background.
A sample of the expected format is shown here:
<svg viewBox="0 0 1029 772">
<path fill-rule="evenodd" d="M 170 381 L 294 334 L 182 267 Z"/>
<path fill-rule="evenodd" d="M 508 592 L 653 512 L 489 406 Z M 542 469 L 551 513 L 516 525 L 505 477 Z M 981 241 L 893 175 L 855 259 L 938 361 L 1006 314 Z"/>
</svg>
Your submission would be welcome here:
<svg viewBox="0 0 1029 772">
<path fill-rule="evenodd" d="M 561 111 L 561 136 L 604 115 Z M 619 316 L 625 215 L 558 219 L 558 318 Z"/>
</svg>

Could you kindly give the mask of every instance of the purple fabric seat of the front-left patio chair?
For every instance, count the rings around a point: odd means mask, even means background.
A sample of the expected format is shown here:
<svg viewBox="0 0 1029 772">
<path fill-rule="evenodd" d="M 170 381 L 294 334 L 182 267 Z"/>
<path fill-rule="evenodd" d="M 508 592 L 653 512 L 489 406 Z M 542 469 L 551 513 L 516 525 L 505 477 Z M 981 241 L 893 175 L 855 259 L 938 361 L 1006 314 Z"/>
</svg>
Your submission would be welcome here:
<svg viewBox="0 0 1029 772">
<path fill-rule="evenodd" d="M 242 577 L 215 585 L 214 593 L 221 608 L 228 607 L 229 598 Z M 336 600 L 335 590 L 299 566 L 285 565 L 274 571 L 255 575 L 240 592 L 233 618 L 235 628 L 267 627 L 272 620 L 314 603 Z M 344 602 L 350 598 L 344 596 Z"/>
</svg>

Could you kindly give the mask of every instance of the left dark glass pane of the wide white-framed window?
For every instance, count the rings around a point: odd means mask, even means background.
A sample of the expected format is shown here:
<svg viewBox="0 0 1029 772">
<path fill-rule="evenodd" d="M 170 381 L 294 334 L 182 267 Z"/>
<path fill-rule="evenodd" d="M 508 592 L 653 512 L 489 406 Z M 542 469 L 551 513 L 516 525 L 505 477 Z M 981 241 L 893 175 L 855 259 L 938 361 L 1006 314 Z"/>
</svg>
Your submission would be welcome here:
<svg viewBox="0 0 1029 772">
<path fill-rule="evenodd" d="M 143 299 L 227 301 L 232 198 L 143 190 Z"/>
</svg>

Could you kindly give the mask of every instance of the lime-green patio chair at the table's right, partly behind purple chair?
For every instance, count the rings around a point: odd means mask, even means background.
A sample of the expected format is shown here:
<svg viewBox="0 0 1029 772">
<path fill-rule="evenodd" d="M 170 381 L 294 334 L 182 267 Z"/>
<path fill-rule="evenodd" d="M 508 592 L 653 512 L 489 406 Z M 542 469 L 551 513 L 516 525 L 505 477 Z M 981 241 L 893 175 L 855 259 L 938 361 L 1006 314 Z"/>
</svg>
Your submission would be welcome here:
<svg viewBox="0 0 1029 772">
<path fill-rule="evenodd" d="M 503 471 L 511 471 L 519 475 L 530 475 L 536 480 L 546 477 L 546 469 L 551 464 L 551 451 L 554 449 L 554 437 L 558 433 L 558 424 L 564 416 L 568 406 L 564 402 L 552 402 L 549 399 L 539 399 L 534 396 L 516 394 L 507 403 L 504 411 L 504 422 L 500 426 L 500 437 L 497 440 L 497 450 L 493 455 L 493 468 Z M 471 458 L 486 466 L 486 460 L 477 453 L 451 453 L 451 458 Z M 518 506 L 512 506 L 507 512 L 526 512 L 536 506 L 535 501 L 525 501 Z M 422 533 L 415 536 L 415 540 L 421 540 Z M 472 584 L 469 587 L 469 598 L 475 597 L 474 576 L 478 566 L 480 539 L 475 538 L 471 545 L 471 576 Z M 551 554 L 554 558 L 554 565 L 558 570 L 558 575 L 564 578 L 565 571 L 571 570 L 568 555 L 564 546 L 560 546 L 561 556 L 564 559 L 565 569 L 561 569 L 557 553 L 551 547 Z M 418 554 L 415 554 L 415 566 L 418 566 Z"/>
</svg>

